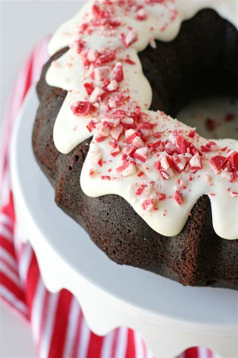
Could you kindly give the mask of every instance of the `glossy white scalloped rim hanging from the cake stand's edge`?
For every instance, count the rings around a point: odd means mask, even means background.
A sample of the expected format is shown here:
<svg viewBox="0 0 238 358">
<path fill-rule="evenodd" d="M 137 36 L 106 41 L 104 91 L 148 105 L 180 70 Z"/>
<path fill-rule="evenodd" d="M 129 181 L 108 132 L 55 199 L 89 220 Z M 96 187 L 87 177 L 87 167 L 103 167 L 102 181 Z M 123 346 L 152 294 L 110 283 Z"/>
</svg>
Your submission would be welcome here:
<svg viewBox="0 0 238 358">
<path fill-rule="evenodd" d="M 18 220 L 23 223 L 26 237 L 36 254 L 42 279 L 50 292 L 67 289 L 78 300 L 90 329 L 105 335 L 119 326 L 127 326 L 138 331 L 146 344 L 156 356 L 174 357 L 191 346 L 205 346 L 216 351 L 221 357 L 237 355 L 237 332 L 227 327 L 224 335 L 217 331 L 203 331 L 202 326 L 193 330 L 192 325 L 181 324 L 177 320 L 166 320 L 157 317 L 155 320 L 150 312 L 113 297 L 86 280 L 64 261 L 49 245 L 37 222 L 31 215 L 21 190 L 17 171 L 18 135 L 21 117 L 24 115 L 28 101 L 34 89 L 27 96 L 25 105 L 17 120 L 11 147 L 11 175 Z M 168 324 L 169 322 L 169 324 Z"/>
</svg>

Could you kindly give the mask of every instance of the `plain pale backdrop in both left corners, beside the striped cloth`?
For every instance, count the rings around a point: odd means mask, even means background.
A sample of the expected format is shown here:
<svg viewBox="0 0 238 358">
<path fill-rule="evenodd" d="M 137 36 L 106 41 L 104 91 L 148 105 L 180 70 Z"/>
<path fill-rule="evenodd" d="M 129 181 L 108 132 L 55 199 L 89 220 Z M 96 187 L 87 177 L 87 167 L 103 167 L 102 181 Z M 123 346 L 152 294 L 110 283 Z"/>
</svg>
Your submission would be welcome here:
<svg viewBox="0 0 238 358">
<path fill-rule="evenodd" d="M 80 0 L 1 1 L 1 138 L 4 113 L 21 64 L 34 44 L 72 17 L 82 3 Z M 36 357 L 30 327 L 3 307 L 0 307 L 0 356 Z"/>
</svg>

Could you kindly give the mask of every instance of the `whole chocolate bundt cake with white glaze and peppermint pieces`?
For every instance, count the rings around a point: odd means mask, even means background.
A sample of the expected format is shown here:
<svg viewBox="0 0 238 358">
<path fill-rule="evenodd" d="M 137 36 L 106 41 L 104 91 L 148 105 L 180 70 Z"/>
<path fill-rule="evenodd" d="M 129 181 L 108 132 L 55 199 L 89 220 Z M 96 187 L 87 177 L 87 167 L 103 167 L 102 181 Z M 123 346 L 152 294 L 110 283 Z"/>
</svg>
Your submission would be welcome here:
<svg viewBox="0 0 238 358">
<path fill-rule="evenodd" d="M 51 39 L 33 150 L 57 205 L 110 259 L 237 289 L 237 141 L 169 116 L 237 96 L 237 3 L 200 4 L 87 3 Z"/>
</svg>

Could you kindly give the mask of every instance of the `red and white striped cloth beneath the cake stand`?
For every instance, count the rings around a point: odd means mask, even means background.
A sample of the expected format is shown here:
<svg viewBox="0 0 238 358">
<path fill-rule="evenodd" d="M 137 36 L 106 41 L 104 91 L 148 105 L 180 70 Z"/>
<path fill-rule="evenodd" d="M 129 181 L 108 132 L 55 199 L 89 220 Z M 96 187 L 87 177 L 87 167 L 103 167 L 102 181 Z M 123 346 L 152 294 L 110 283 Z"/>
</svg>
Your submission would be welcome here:
<svg viewBox="0 0 238 358">
<path fill-rule="evenodd" d="M 129 328 L 117 328 L 104 337 L 90 332 L 76 299 L 66 290 L 57 294 L 46 290 L 31 245 L 21 243 L 21 223 L 15 219 L 11 192 L 9 144 L 23 100 L 47 60 L 47 44 L 48 38 L 39 43 L 21 68 L 7 112 L 1 178 L 0 297 L 31 324 L 40 357 L 149 358 L 152 354 L 143 339 Z M 209 349 L 193 347 L 181 356 L 209 358 L 214 354 Z"/>
</svg>

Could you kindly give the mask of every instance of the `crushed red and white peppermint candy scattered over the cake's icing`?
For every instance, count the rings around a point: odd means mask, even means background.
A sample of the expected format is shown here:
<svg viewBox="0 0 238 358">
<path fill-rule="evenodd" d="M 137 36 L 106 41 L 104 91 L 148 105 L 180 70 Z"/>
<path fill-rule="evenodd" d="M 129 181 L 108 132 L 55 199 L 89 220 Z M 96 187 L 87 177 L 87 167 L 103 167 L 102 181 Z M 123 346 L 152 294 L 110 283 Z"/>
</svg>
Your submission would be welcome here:
<svg viewBox="0 0 238 358">
<path fill-rule="evenodd" d="M 120 2 L 123 13 L 133 18 L 132 26 L 117 16 L 117 2 L 94 2 L 90 16 L 87 14 L 82 20 L 77 38 L 70 46 L 70 51 L 77 55 L 75 58 L 83 63 L 82 74 L 77 79 L 82 87 L 74 92 L 70 109 L 71 117 L 72 113 L 75 116 L 75 132 L 80 131 L 78 122 L 85 120 L 88 137 L 93 137 L 91 144 L 99 149 L 93 154 L 92 168 L 87 168 L 90 183 L 101 180 L 102 185 L 109 187 L 116 181 L 125 182 L 125 192 L 129 186 L 132 188 L 133 200 L 140 209 L 149 215 L 159 210 L 161 216 L 168 217 L 168 203 L 175 210 L 184 208 L 184 201 L 189 200 L 190 192 L 199 185 L 204 190 L 215 191 L 214 178 L 225 183 L 224 191 L 229 189 L 229 197 L 238 196 L 232 185 L 238 178 L 238 152 L 227 144 L 220 147 L 218 141 L 200 137 L 195 128 L 172 120 L 162 111 L 146 110 L 149 103 L 143 105 L 133 97 L 138 89 L 132 90 L 128 78 L 130 71 L 137 76 L 140 68 L 134 53 L 140 44 L 138 29 L 151 16 L 147 6 L 162 2 Z M 169 20 L 162 24 L 162 32 L 177 18 L 174 7 L 168 11 Z M 153 24 L 148 39 L 152 48 L 156 48 L 154 30 Z M 104 47 L 89 48 L 90 35 L 103 38 Z M 70 58 L 68 67 L 74 60 Z M 60 67 L 59 62 L 54 66 Z M 234 115 L 228 114 L 224 121 L 233 119 Z M 214 130 L 216 123 L 207 118 L 206 126 Z M 230 185 L 228 189 L 227 185 Z M 208 190 L 206 193 L 215 195 Z"/>
</svg>

